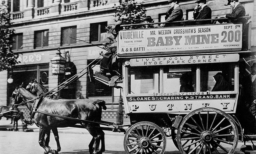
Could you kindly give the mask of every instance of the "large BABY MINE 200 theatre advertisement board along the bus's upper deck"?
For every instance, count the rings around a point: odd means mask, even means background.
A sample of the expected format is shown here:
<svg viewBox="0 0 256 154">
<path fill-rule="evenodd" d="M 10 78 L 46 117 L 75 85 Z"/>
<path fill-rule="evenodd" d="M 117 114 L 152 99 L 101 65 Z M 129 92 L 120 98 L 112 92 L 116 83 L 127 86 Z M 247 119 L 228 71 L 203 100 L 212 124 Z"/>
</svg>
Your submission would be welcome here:
<svg viewBox="0 0 256 154">
<path fill-rule="evenodd" d="M 120 31 L 118 53 L 240 51 L 242 24 Z"/>
</svg>

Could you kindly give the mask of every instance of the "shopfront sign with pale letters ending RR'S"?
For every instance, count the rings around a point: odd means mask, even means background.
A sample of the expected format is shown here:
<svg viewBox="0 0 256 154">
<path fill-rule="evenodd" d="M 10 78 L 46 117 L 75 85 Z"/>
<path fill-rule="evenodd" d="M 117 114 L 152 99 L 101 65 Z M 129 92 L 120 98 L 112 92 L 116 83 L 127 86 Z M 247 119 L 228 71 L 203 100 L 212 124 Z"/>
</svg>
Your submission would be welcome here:
<svg viewBox="0 0 256 154">
<path fill-rule="evenodd" d="M 18 63 L 16 65 L 49 63 L 50 62 L 50 53 L 51 53 L 51 51 L 19 54 L 17 61 L 20 61 L 21 63 Z"/>
</svg>

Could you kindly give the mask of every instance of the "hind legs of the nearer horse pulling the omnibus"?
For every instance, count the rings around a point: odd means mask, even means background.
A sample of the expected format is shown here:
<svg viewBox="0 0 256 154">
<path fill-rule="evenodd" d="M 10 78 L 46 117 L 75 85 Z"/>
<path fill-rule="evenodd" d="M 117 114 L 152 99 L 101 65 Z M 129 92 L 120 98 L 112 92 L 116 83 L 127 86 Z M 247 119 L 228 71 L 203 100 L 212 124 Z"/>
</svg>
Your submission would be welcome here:
<svg viewBox="0 0 256 154">
<path fill-rule="evenodd" d="M 100 143 L 100 139 L 101 136 L 100 134 L 97 134 L 97 129 L 92 125 L 92 124 L 85 124 L 82 123 L 82 125 L 89 131 L 89 133 L 92 135 L 93 139 L 91 140 L 90 144 L 89 144 L 89 152 L 91 154 L 91 152 L 93 154 L 97 154 L 97 153 L 102 153 L 101 151 L 99 151 L 99 143 Z M 93 142 L 94 140 L 94 142 Z M 93 147 L 90 147 L 91 144 L 93 143 Z"/>
</svg>

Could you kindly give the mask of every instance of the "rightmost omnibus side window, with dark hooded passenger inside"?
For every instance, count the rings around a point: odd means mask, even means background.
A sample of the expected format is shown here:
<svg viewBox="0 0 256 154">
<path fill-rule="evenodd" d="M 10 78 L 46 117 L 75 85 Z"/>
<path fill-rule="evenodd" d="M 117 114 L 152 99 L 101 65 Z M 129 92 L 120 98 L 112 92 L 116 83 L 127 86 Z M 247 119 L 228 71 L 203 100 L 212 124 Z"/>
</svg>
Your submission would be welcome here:
<svg viewBox="0 0 256 154">
<path fill-rule="evenodd" d="M 205 64 L 200 66 L 201 91 L 234 91 L 234 63 Z"/>
</svg>

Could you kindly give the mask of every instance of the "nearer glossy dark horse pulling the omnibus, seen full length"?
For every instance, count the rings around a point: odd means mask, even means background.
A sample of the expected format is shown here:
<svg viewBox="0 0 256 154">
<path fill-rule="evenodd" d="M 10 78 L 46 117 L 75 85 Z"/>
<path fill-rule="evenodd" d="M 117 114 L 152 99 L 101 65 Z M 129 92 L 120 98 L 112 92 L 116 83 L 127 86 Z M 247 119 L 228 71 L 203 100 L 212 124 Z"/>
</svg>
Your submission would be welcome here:
<svg viewBox="0 0 256 154">
<path fill-rule="evenodd" d="M 20 104 L 22 101 L 26 102 L 36 98 L 36 96 L 21 86 L 12 93 L 12 97 L 14 98 L 14 106 Z M 31 110 L 33 102 L 27 102 L 26 106 Z M 45 153 L 58 153 L 56 150 L 51 149 L 49 145 L 46 145 L 44 140 L 46 132 L 57 127 L 69 127 L 80 123 L 93 136 L 93 139 L 89 144 L 89 152 L 93 154 L 104 152 L 104 132 L 100 128 L 99 123 L 91 122 L 101 120 L 102 108 L 106 110 L 105 101 L 102 100 L 92 102 L 87 99 L 68 100 L 44 97 L 38 107 L 38 112 L 34 115 L 34 122 L 39 127 L 39 145 L 44 148 Z M 55 116 L 48 116 L 46 114 L 39 113 L 40 111 L 77 118 L 81 119 L 81 121 L 78 122 L 77 120 L 67 120 Z M 99 149 L 101 139 L 103 139 L 103 142 L 101 143 L 102 149 Z"/>
</svg>

